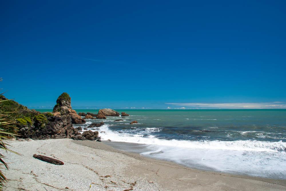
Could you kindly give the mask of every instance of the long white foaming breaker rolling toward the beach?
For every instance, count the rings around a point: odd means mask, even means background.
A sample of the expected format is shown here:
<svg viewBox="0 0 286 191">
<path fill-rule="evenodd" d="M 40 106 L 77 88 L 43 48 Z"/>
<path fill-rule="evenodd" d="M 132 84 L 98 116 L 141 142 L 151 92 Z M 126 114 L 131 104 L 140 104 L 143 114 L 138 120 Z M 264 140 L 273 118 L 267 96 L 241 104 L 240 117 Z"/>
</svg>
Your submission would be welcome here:
<svg viewBox="0 0 286 191">
<path fill-rule="evenodd" d="M 101 126 L 100 131 L 105 131 L 105 134 L 100 134 L 103 140 L 110 139 L 118 142 L 131 142 L 139 144 L 150 144 L 159 146 L 171 146 L 180 148 L 198 148 L 211 150 L 240 150 L 240 151 L 258 151 L 258 152 L 285 152 L 286 143 L 282 141 L 257 141 L 257 140 L 235 140 L 235 141 L 220 141 L 220 140 L 165 140 L 156 137 L 138 137 L 131 134 L 118 134 L 108 128 L 107 125 Z M 151 130 L 151 129 L 150 129 Z M 155 129 L 152 129 L 155 130 Z M 157 130 L 157 129 L 156 129 Z"/>
</svg>

